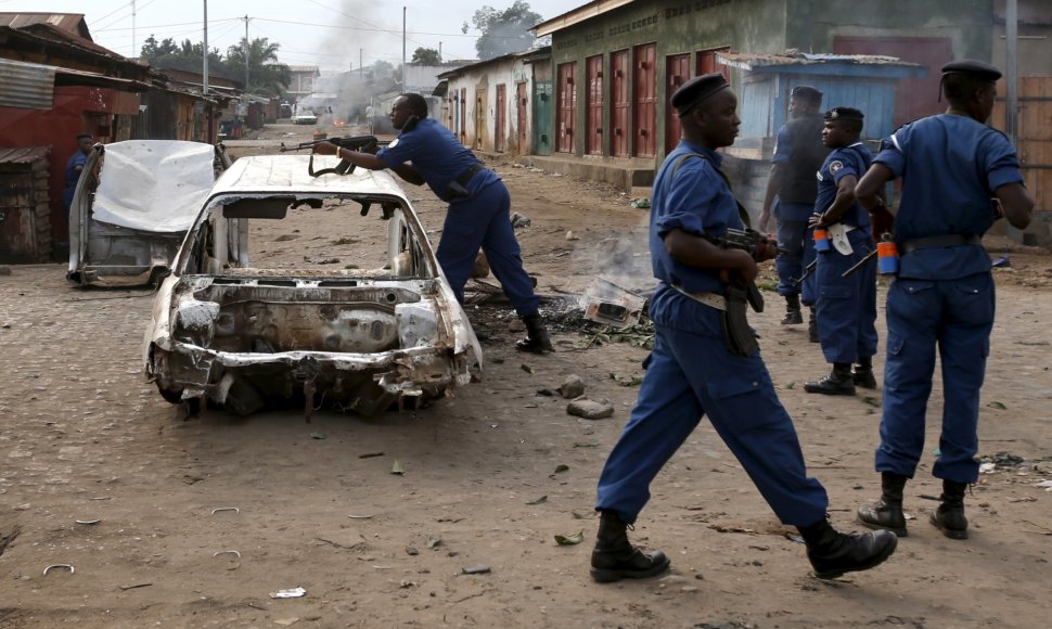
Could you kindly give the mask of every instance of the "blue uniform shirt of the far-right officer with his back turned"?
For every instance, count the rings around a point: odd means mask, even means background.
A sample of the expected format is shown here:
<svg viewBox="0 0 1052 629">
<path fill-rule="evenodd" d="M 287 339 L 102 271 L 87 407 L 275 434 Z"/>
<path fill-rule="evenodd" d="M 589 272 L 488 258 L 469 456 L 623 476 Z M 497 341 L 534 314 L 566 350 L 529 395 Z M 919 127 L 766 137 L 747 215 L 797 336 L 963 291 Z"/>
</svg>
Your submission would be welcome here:
<svg viewBox="0 0 1052 629">
<path fill-rule="evenodd" d="M 1015 149 L 1000 131 L 970 117 L 939 114 L 898 129 L 873 159 L 902 178 L 895 241 L 978 235 L 993 224 L 993 191 L 1019 183 Z M 920 249 L 902 256 L 899 277 L 953 280 L 990 270 L 982 245 Z"/>
</svg>

